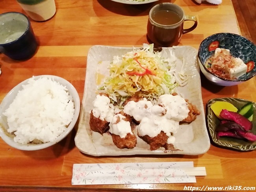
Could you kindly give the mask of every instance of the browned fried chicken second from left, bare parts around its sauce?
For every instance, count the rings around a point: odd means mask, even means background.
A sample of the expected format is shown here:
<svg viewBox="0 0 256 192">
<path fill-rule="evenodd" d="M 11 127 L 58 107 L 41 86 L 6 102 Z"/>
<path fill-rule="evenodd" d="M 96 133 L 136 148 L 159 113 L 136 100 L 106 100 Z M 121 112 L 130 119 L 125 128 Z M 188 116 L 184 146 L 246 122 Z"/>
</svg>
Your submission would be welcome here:
<svg viewBox="0 0 256 192">
<path fill-rule="evenodd" d="M 130 115 L 124 113 L 124 111 L 120 111 L 119 114 L 124 116 L 124 118 L 122 118 L 122 120 L 129 122 L 129 124 L 131 125 L 132 117 Z M 119 124 L 120 122 L 121 122 L 120 116 L 117 116 L 117 120 L 114 123 L 113 122 L 111 122 L 111 123 Z M 133 128 L 131 126 L 131 131 L 132 131 L 132 129 Z M 124 148 L 132 149 L 132 148 L 135 148 L 135 146 L 137 144 L 137 137 L 131 133 L 127 133 L 127 135 L 122 138 L 119 135 L 115 135 L 115 134 L 111 133 L 111 137 L 112 137 L 113 143 L 119 149 L 124 149 Z"/>
</svg>

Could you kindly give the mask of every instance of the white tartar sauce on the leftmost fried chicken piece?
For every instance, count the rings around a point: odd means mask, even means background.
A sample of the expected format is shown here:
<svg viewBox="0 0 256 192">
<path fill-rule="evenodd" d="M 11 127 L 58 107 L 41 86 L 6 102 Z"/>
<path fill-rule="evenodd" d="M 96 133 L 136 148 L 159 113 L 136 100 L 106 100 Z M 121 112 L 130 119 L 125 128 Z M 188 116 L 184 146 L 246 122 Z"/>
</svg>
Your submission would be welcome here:
<svg viewBox="0 0 256 192">
<path fill-rule="evenodd" d="M 93 116 L 111 122 L 114 115 L 114 106 L 110 103 L 110 99 L 104 95 L 97 95 L 93 101 Z"/>
</svg>

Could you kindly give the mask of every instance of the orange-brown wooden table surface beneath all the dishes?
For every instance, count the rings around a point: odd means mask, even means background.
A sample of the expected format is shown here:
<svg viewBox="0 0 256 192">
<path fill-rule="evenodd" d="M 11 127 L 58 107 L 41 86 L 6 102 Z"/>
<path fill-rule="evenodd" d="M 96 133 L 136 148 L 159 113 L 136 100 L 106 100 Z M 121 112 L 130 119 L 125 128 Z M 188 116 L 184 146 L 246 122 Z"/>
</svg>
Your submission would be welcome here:
<svg viewBox="0 0 256 192">
<path fill-rule="evenodd" d="M 88 49 L 96 44 L 113 46 L 141 46 L 147 43 L 146 26 L 151 4 L 126 5 L 111 0 L 56 0 L 57 13 L 46 22 L 32 27 L 40 46 L 32 59 L 13 61 L 0 54 L 0 101 L 15 85 L 32 76 L 50 74 L 70 81 L 83 99 Z M 184 8 L 186 14 L 198 18 L 198 26 L 182 37 L 180 45 L 198 49 L 207 36 L 219 32 L 239 34 L 231 0 L 219 6 L 197 5 L 193 0 L 171 1 Z M 24 13 L 15 0 L 0 0 L 0 13 Z M 186 24 L 186 26 L 189 26 Z M 256 79 L 241 85 L 217 87 L 204 77 L 202 98 L 236 97 L 256 102 Z M 93 157 L 80 153 L 74 144 L 77 126 L 60 143 L 39 151 L 20 151 L 0 139 L 0 191 L 98 191 L 98 190 L 184 190 L 184 186 L 242 186 L 255 187 L 256 151 L 239 152 L 211 144 L 203 155 L 153 155 Z M 196 177 L 197 183 L 147 185 L 87 185 L 72 186 L 74 163 L 111 162 L 172 162 L 193 161 L 206 167 L 207 176 Z M 231 190 L 229 190 L 231 191 Z M 246 190 L 244 190 L 246 191 Z"/>
</svg>

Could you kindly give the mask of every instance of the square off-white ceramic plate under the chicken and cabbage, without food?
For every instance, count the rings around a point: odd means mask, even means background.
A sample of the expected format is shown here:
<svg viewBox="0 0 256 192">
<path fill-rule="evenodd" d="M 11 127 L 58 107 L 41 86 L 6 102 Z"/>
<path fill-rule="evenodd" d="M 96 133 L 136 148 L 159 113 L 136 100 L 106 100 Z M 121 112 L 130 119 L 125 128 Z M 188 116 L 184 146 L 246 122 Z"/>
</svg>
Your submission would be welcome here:
<svg viewBox="0 0 256 192">
<path fill-rule="evenodd" d="M 119 149 L 113 142 L 111 135 L 96 133 L 91 131 L 89 126 L 90 112 L 93 108 L 93 101 L 98 94 L 98 87 L 104 76 L 109 75 L 107 66 L 112 61 L 113 56 L 123 55 L 133 48 L 111 47 L 95 45 L 90 48 L 87 56 L 87 71 L 85 77 L 85 88 L 80 112 L 78 131 L 75 137 L 77 148 L 86 154 L 94 156 L 102 155 L 142 155 L 142 154 L 186 154 L 199 155 L 206 153 L 210 148 L 210 138 L 206 129 L 204 106 L 202 102 L 200 70 L 197 63 L 197 50 L 191 46 L 174 46 L 173 48 L 163 48 L 162 55 L 168 57 L 168 49 L 172 49 L 178 58 L 176 70 L 180 70 L 184 59 L 184 70 L 189 75 L 189 81 L 184 87 L 178 87 L 176 92 L 181 94 L 189 102 L 197 106 L 201 114 L 190 124 L 182 124 L 178 132 L 174 135 L 173 151 L 159 148 L 150 151 L 149 145 L 141 138 L 137 137 L 137 145 L 134 149 Z"/>
</svg>

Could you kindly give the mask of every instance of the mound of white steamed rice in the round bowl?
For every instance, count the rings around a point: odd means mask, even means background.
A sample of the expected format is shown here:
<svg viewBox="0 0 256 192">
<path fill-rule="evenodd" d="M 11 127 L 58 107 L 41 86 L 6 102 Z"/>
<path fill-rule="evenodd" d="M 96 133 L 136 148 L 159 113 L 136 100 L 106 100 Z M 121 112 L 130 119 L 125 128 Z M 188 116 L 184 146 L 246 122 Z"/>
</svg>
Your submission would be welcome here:
<svg viewBox="0 0 256 192">
<path fill-rule="evenodd" d="M 54 141 L 74 116 L 72 96 L 66 87 L 45 77 L 32 77 L 22 88 L 3 113 L 7 131 L 21 144 Z"/>
</svg>

